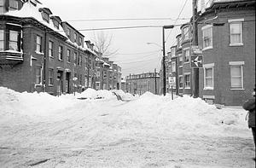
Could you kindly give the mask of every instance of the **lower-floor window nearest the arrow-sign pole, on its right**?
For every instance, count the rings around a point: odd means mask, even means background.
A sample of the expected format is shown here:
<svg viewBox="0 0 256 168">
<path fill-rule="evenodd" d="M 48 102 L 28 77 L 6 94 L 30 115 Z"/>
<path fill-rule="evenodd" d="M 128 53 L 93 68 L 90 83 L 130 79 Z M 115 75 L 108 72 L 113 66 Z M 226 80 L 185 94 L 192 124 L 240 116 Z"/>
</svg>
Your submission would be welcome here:
<svg viewBox="0 0 256 168">
<path fill-rule="evenodd" d="M 204 90 L 213 90 L 213 67 L 214 63 L 204 65 Z"/>
</svg>

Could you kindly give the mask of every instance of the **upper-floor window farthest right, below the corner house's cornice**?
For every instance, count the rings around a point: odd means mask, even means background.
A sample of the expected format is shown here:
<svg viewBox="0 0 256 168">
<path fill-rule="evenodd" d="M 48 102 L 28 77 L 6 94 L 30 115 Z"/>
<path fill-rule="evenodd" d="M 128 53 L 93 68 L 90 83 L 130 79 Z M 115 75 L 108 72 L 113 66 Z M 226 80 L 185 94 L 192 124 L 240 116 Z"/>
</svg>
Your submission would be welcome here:
<svg viewBox="0 0 256 168">
<path fill-rule="evenodd" d="M 243 19 L 229 20 L 230 22 L 230 45 L 242 45 Z"/>
</svg>

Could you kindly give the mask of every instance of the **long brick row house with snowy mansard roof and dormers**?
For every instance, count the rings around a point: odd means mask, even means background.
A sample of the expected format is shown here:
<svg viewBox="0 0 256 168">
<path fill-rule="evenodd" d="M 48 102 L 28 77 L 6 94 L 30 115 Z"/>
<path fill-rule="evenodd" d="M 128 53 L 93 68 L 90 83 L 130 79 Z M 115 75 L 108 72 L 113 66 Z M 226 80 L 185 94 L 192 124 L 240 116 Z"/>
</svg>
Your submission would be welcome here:
<svg viewBox="0 0 256 168">
<path fill-rule="evenodd" d="M 108 60 L 38 0 L 0 0 L 0 17 L 0 86 L 55 96 L 102 89 L 97 66 Z"/>
</svg>

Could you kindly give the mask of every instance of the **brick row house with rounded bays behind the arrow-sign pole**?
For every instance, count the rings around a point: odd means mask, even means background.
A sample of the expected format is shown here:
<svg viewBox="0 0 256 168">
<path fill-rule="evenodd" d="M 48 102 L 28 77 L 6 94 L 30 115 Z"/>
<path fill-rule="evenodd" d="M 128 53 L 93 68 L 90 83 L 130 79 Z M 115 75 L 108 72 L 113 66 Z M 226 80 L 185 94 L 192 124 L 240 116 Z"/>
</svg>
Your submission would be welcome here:
<svg viewBox="0 0 256 168">
<path fill-rule="evenodd" d="M 199 95 L 210 103 L 240 106 L 251 96 L 255 84 L 255 0 L 212 0 L 207 5 L 197 16 L 203 55 Z M 175 91 L 181 96 L 192 94 L 191 25 L 181 26 L 177 45 L 169 54 L 173 67 L 168 73 L 177 78 L 173 85 L 178 86 Z"/>
</svg>

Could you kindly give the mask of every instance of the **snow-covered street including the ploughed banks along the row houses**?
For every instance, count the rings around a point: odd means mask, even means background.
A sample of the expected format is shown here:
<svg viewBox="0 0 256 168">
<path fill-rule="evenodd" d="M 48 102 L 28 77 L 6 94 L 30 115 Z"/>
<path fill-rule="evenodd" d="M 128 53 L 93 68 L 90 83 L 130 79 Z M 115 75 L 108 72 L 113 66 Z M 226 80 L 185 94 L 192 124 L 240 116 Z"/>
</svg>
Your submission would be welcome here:
<svg viewBox="0 0 256 168">
<path fill-rule="evenodd" d="M 107 90 L 55 97 L 0 87 L 1 167 L 255 166 L 241 108 L 115 93 L 123 101 Z"/>
</svg>

